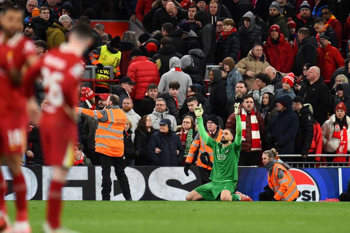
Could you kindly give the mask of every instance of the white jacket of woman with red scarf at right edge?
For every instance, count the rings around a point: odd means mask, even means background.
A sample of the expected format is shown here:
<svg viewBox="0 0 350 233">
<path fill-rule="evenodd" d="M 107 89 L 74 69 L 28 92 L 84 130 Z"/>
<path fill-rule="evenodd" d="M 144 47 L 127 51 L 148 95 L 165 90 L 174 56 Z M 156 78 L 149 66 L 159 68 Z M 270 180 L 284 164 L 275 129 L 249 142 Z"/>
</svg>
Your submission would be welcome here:
<svg viewBox="0 0 350 233">
<path fill-rule="evenodd" d="M 346 115 L 345 115 L 346 116 Z M 329 120 L 327 120 L 322 126 L 322 144 L 323 149 L 326 152 L 333 153 L 335 152 L 340 143 L 340 139 L 332 137 L 334 132 L 334 122 L 335 122 L 335 114 L 331 116 Z M 350 152 L 350 118 L 346 116 L 347 122 L 347 151 Z"/>
</svg>

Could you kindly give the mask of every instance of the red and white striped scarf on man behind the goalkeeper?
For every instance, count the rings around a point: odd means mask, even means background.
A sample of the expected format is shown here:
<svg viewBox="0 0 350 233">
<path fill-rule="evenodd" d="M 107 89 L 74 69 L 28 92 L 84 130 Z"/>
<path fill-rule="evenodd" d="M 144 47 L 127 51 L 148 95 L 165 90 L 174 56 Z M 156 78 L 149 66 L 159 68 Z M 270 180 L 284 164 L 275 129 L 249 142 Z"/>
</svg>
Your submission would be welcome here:
<svg viewBox="0 0 350 233">
<path fill-rule="evenodd" d="M 242 141 L 246 140 L 246 121 L 247 112 L 242 108 L 241 122 L 242 122 Z M 257 123 L 255 111 L 250 112 L 250 124 L 251 124 L 251 134 L 252 134 L 252 151 L 261 151 L 261 140 L 259 132 L 259 124 Z"/>
</svg>

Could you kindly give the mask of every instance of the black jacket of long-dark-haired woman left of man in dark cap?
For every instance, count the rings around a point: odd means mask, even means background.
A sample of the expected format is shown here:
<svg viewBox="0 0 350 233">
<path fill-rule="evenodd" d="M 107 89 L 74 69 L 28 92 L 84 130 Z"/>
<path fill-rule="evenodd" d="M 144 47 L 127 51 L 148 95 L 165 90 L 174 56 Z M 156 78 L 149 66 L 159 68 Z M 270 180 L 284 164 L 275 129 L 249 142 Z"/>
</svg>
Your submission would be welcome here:
<svg viewBox="0 0 350 233">
<path fill-rule="evenodd" d="M 147 158 L 146 148 L 150 136 L 154 133 L 144 132 L 140 129 L 135 130 L 135 138 L 134 138 L 134 148 L 138 151 L 138 156 L 135 158 L 135 166 L 148 166 L 150 165 L 150 161 Z"/>
</svg>

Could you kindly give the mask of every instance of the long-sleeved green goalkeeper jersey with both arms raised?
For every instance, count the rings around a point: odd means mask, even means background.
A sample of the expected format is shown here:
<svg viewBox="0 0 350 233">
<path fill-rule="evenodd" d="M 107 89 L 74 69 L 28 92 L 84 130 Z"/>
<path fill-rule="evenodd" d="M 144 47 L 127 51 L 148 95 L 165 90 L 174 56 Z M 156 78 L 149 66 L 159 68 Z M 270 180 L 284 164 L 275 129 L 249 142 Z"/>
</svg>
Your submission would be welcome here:
<svg viewBox="0 0 350 233">
<path fill-rule="evenodd" d="M 240 158 L 242 144 L 242 124 L 241 117 L 236 116 L 236 137 L 235 141 L 227 147 L 223 147 L 221 142 L 217 142 L 208 136 L 203 119 L 197 118 L 199 133 L 208 147 L 213 149 L 214 162 L 210 174 L 210 180 L 216 182 L 237 182 L 238 181 L 238 161 Z M 205 134 L 205 135 L 204 135 Z"/>
</svg>

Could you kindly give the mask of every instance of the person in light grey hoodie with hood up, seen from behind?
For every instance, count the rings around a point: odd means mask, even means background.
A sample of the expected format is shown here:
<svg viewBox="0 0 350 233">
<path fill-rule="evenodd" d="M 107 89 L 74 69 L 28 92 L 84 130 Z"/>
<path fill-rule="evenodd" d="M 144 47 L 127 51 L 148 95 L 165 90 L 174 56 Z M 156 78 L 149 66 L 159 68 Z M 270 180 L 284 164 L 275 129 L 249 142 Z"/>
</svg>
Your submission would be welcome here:
<svg viewBox="0 0 350 233">
<path fill-rule="evenodd" d="M 182 108 L 182 105 L 186 100 L 187 89 L 192 85 L 191 77 L 188 74 L 185 74 L 181 70 L 181 62 L 179 57 L 172 57 L 169 61 L 170 71 L 166 72 L 160 78 L 158 85 L 158 91 L 163 93 L 166 91 L 166 86 L 169 86 L 169 83 L 172 81 L 178 81 L 180 83 L 180 90 L 178 96 L 178 105 L 179 109 Z M 155 128 L 155 127 L 154 127 Z"/>
</svg>

